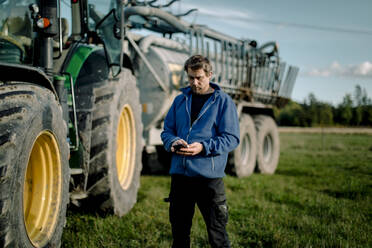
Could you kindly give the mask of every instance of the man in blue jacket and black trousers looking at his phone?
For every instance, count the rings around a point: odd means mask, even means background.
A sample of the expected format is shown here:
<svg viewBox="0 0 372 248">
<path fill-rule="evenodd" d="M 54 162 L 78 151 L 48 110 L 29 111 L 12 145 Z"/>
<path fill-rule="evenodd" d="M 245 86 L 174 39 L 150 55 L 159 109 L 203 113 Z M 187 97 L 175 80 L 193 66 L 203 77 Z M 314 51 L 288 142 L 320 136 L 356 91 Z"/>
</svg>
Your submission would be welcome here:
<svg viewBox="0 0 372 248">
<path fill-rule="evenodd" d="M 161 138 L 172 152 L 169 218 L 173 248 L 190 247 L 195 203 L 207 226 L 212 247 L 230 247 L 222 178 L 227 156 L 239 144 L 239 120 L 232 99 L 210 82 L 212 66 L 194 55 L 184 69 L 189 86 L 170 108 Z"/>
</svg>

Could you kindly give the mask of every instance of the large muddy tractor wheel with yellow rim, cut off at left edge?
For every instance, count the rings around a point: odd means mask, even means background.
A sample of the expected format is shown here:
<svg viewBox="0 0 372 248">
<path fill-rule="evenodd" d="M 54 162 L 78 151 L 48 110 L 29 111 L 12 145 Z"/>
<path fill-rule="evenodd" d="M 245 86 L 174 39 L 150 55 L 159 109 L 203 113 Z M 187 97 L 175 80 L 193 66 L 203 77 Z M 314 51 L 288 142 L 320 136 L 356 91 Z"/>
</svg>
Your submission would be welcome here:
<svg viewBox="0 0 372 248">
<path fill-rule="evenodd" d="M 55 96 L 0 86 L 0 246 L 59 247 L 66 222 L 67 126 Z"/>
</svg>

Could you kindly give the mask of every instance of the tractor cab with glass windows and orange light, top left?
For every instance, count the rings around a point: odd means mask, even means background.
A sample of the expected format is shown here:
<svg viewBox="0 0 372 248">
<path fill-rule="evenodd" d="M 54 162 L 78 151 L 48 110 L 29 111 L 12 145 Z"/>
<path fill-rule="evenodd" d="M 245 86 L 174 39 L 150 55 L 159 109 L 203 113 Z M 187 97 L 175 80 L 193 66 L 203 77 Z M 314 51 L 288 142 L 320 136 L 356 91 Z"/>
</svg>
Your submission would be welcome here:
<svg viewBox="0 0 372 248">
<path fill-rule="evenodd" d="M 48 4 L 52 7 L 46 8 Z M 117 75 L 124 33 L 121 10 L 121 2 L 115 0 L 0 0 L 0 61 L 48 67 L 51 63 L 35 61 L 52 54 L 58 73 L 66 58 L 61 55 L 71 47 L 103 45 L 107 63 Z M 35 41 L 46 38 L 51 41 Z"/>
</svg>

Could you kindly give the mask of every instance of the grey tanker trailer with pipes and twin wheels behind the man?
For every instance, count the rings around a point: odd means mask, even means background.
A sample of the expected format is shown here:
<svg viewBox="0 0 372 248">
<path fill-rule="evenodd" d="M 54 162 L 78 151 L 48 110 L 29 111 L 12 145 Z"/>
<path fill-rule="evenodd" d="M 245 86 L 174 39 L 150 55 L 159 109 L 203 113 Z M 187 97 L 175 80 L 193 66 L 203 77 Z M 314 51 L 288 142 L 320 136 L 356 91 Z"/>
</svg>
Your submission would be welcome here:
<svg viewBox="0 0 372 248">
<path fill-rule="evenodd" d="M 241 143 L 229 156 L 228 168 L 238 177 L 256 169 L 272 174 L 279 160 L 279 135 L 274 106 L 289 100 L 298 68 L 286 67 L 276 42 L 258 45 L 204 25 L 190 24 L 165 11 L 175 1 L 130 1 L 124 9 L 125 53 L 137 77 L 145 140 L 144 172 L 164 172 L 169 155 L 162 148 L 163 120 L 181 87 L 187 86 L 184 61 L 192 54 L 209 58 L 212 79 L 234 100 L 240 119 Z"/>
</svg>

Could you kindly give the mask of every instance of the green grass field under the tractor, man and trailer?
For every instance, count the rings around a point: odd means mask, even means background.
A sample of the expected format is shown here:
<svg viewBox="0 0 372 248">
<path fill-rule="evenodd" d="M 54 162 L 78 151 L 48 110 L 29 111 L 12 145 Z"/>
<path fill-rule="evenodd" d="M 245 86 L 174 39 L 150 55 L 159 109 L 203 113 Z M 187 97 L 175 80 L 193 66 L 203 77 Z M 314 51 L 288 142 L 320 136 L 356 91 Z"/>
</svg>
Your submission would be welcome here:
<svg viewBox="0 0 372 248">
<path fill-rule="evenodd" d="M 282 133 L 274 175 L 225 178 L 232 247 L 372 247 L 372 136 Z M 170 247 L 168 176 L 126 216 L 68 211 L 62 247 Z M 192 247 L 208 247 L 200 212 Z"/>
</svg>

